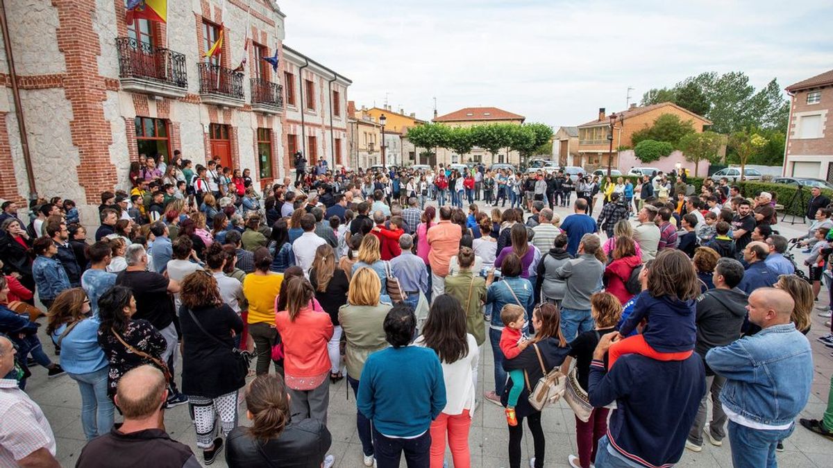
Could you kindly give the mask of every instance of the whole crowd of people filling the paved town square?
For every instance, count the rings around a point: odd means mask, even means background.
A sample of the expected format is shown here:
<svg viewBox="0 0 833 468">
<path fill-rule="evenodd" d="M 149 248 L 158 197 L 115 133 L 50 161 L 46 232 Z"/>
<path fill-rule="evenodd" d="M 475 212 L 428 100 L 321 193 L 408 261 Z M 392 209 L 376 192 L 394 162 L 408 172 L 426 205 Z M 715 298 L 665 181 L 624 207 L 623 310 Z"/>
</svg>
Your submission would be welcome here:
<svg viewBox="0 0 833 468">
<path fill-rule="evenodd" d="M 232 467 L 327 468 L 329 390 L 345 377 L 365 466 L 471 466 L 472 416 L 490 402 L 509 466 L 526 421 L 541 468 L 546 410 L 531 394 L 553 375 L 577 396 L 570 466 L 669 466 L 726 437 L 735 466 L 776 466 L 831 277 L 833 211 L 816 189 L 810 230 L 788 240 L 769 193 L 751 201 L 725 179 L 696 194 L 684 173 L 635 187 L 481 165 L 295 167 L 260 193 L 248 169 L 142 156 L 129 192 L 102 193 L 89 239 L 70 200 L 33 201 L 29 222 L 2 203 L 0 465 L 57 466 L 24 393 L 39 365 L 77 382 L 85 468 L 195 467 L 223 450 Z M 791 242 L 809 249 L 806 277 Z M 60 363 L 38 336 L 44 313 Z M 833 347 L 833 328 L 821 341 Z M 184 404 L 201 457 L 165 431 Z M 833 396 L 800 422 L 833 440 Z"/>
</svg>

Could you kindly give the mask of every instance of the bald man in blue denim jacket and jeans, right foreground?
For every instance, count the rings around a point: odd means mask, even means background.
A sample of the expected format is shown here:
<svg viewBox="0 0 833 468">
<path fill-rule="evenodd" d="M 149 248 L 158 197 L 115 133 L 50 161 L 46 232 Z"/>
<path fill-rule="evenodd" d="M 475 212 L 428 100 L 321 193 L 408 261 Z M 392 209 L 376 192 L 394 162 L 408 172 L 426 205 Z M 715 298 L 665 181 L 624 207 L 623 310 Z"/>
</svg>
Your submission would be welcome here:
<svg viewBox="0 0 833 468">
<path fill-rule="evenodd" d="M 761 331 L 706 353 L 706 363 L 726 377 L 721 403 L 736 468 L 776 466 L 776 445 L 790 436 L 810 395 L 812 354 L 790 320 L 794 307 L 786 291 L 756 289 L 746 310 Z"/>
</svg>

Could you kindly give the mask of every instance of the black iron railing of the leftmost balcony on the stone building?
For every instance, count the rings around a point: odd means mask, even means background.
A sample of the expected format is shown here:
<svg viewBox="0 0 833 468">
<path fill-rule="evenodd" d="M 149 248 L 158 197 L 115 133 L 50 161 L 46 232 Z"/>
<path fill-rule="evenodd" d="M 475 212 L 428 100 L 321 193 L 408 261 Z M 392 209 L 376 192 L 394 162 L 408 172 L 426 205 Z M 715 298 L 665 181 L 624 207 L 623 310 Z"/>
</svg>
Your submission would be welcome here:
<svg viewBox="0 0 833 468">
<path fill-rule="evenodd" d="M 153 47 L 132 37 L 116 37 L 116 47 L 119 77 L 152 80 L 183 90 L 187 88 L 184 54 L 165 47 Z"/>
</svg>

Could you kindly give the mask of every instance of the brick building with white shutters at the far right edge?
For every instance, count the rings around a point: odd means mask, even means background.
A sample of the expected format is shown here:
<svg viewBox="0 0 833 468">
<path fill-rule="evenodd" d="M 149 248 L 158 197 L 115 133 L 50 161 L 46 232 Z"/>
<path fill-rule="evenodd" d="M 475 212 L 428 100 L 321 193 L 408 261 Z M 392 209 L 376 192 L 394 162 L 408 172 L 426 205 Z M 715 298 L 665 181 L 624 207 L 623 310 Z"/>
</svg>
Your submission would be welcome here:
<svg viewBox="0 0 833 468">
<path fill-rule="evenodd" d="M 784 175 L 833 181 L 833 131 L 827 121 L 833 109 L 833 70 L 786 87 L 790 125 L 786 132 Z"/>
</svg>

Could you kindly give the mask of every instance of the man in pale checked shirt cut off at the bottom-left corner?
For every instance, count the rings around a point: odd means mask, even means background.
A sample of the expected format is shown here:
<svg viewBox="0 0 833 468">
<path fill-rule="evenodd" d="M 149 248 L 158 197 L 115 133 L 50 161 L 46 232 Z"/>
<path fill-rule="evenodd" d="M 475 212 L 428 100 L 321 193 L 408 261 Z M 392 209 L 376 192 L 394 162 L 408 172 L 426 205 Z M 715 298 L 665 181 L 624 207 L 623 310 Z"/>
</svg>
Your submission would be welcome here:
<svg viewBox="0 0 833 468">
<path fill-rule="evenodd" d="M 17 387 L 15 354 L 12 341 L 0 335 L 0 466 L 57 468 L 52 427 L 40 406 Z"/>
</svg>

